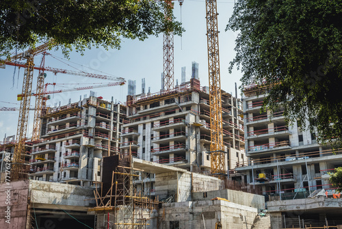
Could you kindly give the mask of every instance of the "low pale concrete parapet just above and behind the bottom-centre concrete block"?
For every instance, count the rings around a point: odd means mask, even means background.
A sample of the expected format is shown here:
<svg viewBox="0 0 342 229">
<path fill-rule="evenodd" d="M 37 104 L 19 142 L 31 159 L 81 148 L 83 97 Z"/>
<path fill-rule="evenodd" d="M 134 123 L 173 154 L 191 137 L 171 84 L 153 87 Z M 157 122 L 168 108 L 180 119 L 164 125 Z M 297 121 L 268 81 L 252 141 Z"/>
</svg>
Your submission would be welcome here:
<svg viewBox="0 0 342 229">
<path fill-rule="evenodd" d="M 205 192 L 193 193 L 194 200 L 211 200 L 215 197 L 224 198 L 235 204 L 250 206 L 252 208 L 265 209 L 265 197 L 246 193 L 243 191 L 235 191 L 231 189 L 224 189 L 218 191 L 206 191 L 207 197 L 204 197 Z"/>
</svg>

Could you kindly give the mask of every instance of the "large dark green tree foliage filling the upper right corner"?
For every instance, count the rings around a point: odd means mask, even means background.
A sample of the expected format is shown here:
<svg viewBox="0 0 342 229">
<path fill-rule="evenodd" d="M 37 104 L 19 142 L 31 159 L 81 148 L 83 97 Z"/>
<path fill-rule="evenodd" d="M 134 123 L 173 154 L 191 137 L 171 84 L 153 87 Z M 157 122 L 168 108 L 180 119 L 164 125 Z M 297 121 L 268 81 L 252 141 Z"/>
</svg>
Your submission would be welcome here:
<svg viewBox="0 0 342 229">
<path fill-rule="evenodd" d="M 242 88 L 268 85 L 264 108 L 341 145 L 342 1 L 239 0 L 228 29 L 239 31 L 229 69 L 241 68 Z"/>
</svg>

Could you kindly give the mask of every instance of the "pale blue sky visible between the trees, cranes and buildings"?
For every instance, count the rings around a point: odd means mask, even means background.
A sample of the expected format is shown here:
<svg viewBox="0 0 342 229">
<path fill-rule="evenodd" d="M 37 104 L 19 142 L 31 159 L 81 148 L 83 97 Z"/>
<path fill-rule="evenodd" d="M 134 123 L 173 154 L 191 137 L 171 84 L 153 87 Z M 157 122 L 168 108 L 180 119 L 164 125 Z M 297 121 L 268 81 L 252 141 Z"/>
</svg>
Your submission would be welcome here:
<svg viewBox="0 0 342 229">
<path fill-rule="evenodd" d="M 235 38 L 236 32 L 224 31 L 228 23 L 228 19 L 233 13 L 234 1 L 218 0 L 218 27 L 219 45 L 220 45 L 220 73 L 222 90 L 235 93 L 235 82 L 239 86 L 239 79 L 242 74 L 238 70 L 233 70 L 232 74 L 228 73 L 229 62 L 235 56 Z M 181 82 L 181 67 L 186 66 L 186 79 L 191 78 L 192 62 L 199 64 L 199 77 L 202 86 L 208 85 L 208 64 L 207 64 L 207 24 L 205 19 L 205 1 L 204 0 L 188 0 L 179 6 L 178 2 L 174 4 L 174 15 L 177 20 L 181 21 L 185 28 L 183 37 L 174 37 L 174 81 L 176 79 Z M 70 53 L 70 61 L 64 58 L 61 51 L 49 51 L 55 58 L 46 57 L 45 66 L 53 68 L 63 68 L 68 70 L 83 70 L 103 75 L 114 75 L 123 77 L 124 79 L 132 79 L 137 82 L 136 93 L 141 92 L 142 78 L 146 79 L 146 90 L 150 87 L 152 93 L 158 92 L 161 87 L 161 72 L 163 72 L 163 35 L 160 34 L 157 38 L 150 37 L 147 40 L 122 40 L 120 50 L 109 50 L 93 48 L 84 53 Z M 39 66 L 41 55 L 37 55 L 35 59 L 36 66 Z M 64 64 L 67 63 L 68 65 Z M 87 68 L 88 67 L 88 68 Z M 21 93 L 23 84 L 24 69 L 6 66 L 5 69 L 0 69 L 1 85 L 0 85 L 0 107 L 19 107 L 16 100 L 17 94 Z M 46 72 L 47 78 L 45 83 L 105 83 L 107 81 L 99 79 L 90 79 L 86 77 L 77 77 L 73 75 L 53 75 L 52 72 Z M 38 70 L 34 72 L 34 83 L 32 90 L 36 90 L 36 79 Z M 13 80 L 14 79 L 14 80 Z M 81 87 L 81 85 L 64 85 L 64 87 Z M 89 85 L 89 84 L 88 84 Z M 64 87 L 55 87 L 55 90 Z M 54 88 L 48 87 L 48 90 Z M 105 87 L 97 90 L 97 96 L 103 96 L 106 100 L 120 100 L 122 103 L 127 96 L 127 85 Z M 56 103 L 65 105 L 69 98 L 75 103 L 79 100 L 79 96 L 87 94 L 90 91 L 66 92 L 51 95 L 51 100 L 48 100 L 47 105 L 53 107 Z M 34 107 L 34 98 L 31 98 L 31 107 Z M 34 111 L 30 112 L 28 135 L 31 136 Z M 2 141 L 5 133 L 7 135 L 16 134 L 16 126 L 18 123 L 18 111 L 0 111 L 0 141 Z"/>
</svg>

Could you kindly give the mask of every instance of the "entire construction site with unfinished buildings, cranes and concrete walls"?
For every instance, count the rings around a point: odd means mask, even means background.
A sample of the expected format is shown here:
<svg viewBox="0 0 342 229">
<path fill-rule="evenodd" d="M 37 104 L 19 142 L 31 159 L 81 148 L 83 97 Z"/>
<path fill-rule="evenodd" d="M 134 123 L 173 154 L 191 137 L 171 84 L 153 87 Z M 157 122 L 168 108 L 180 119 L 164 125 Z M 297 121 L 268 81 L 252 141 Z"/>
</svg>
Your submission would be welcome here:
<svg viewBox="0 0 342 229">
<path fill-rule="evenodd" d="M 282 107 L 262 109 L 272 85 L 252 83 L 241 98 L 236 83 L 235 94 L 226 92 L 216 1 L 206 1 L 205 16 L 208 85 L 196 62 L 190 79 L 185 67 L 181 83 L 175 79 L 172 32 L 163 34 L 157 92 L 144 78 L 137 94 L 137 79 L 46 67 L 54 40 L 1 61 L 25 68 L 20 107 L 0 108 L 19 111 L 16 135 L 0 145 L 1 228 L 342 228 L 341 194 L 329 181 L 341 149 L 289 126 Z M 110 83 L 49 91 L 57 83 L 44 82 L 46 72 Z M 125 83 L 125 101 L 91 91 L 47 105 L 51 94 Z"/>
</svg>

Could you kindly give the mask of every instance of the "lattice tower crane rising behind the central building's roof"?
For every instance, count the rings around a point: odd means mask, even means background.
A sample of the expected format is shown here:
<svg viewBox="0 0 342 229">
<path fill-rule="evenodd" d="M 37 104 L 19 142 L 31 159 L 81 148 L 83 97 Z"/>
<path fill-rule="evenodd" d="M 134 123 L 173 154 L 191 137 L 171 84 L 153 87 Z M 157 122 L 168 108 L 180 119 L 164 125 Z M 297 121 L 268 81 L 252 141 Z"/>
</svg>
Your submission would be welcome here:
<svg viewBox="0 0 342 229">
<path fill-rule="evenodd" d="M 179 5 L 183 5 L 184 0 L 179 0 Z M 172 18 L 172 0 L 165 0 L 167 8 L 165 17 L 167 20 Z M 174 35 L 172 31 L 163 33 L 163 75 L 164 90 L 174 89 Z"/>
</svg>

